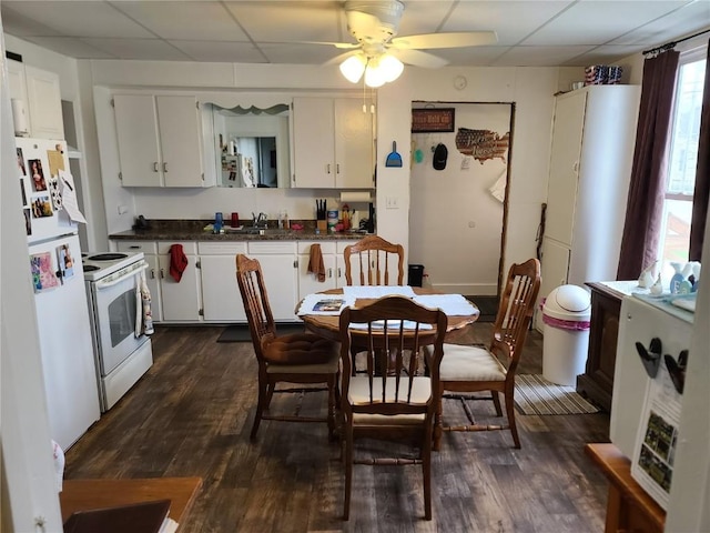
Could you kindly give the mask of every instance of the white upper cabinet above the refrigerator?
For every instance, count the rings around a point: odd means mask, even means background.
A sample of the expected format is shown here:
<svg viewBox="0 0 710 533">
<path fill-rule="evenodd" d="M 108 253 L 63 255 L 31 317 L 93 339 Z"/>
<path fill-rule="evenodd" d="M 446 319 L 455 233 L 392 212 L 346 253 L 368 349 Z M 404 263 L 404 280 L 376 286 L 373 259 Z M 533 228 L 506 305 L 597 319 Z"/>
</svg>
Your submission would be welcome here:
<svg viewBox="0 0 710 533">
<path fill-rule="evenodd" d="M 23 137 L 64 139 L 59 74 L 8 60 L 10 98 L 20 100 L 26 112 Z M 18 132 L 20 133 L 20 132 Z"/>
</svg>

